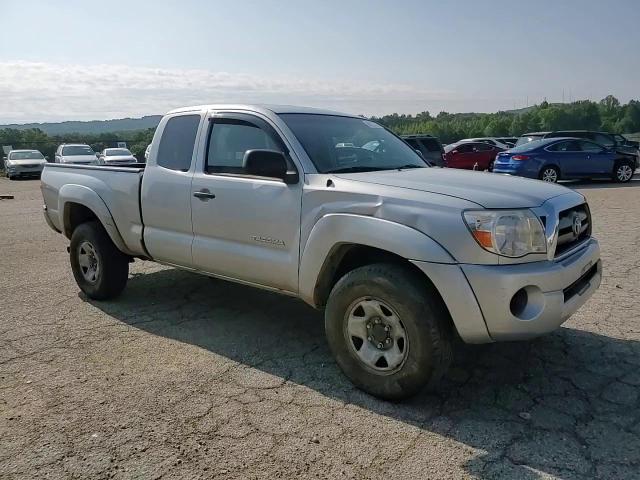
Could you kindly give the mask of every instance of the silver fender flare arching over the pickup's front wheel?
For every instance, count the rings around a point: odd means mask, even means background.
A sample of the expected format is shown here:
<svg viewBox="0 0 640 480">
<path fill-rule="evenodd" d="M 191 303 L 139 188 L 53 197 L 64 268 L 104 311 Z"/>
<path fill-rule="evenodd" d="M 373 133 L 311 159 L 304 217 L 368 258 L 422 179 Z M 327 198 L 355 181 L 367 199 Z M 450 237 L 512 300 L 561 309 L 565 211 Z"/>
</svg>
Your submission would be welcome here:
<svg viewBox="0 0 640 480">
<path fill-rule="evenodd" d="M 447 250 L 424 233 L 400 223 L 364 215 L 331 213 L 320 218 L 300 253 L 300 298 L 317 305 L 316 285 L 325 262 L 336 247 L 364 245 L 385 250 L 407 260 L 457 263 Z"/>
</svg>

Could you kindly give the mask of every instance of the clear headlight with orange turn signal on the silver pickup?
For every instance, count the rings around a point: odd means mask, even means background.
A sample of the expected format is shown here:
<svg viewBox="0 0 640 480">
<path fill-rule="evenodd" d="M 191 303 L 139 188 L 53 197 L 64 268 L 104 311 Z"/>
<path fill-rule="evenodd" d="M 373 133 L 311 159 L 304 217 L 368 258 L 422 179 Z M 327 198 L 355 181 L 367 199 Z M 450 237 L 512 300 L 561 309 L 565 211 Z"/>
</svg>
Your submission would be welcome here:
<svg viewBox="0 0 640 480">
<path fill-rule="evenodd" d="M 531 210 L 476 210 L 464 212 L 473 238 L 482 248 L 505 257 L 546 253 L 540 219 Z"/>
</svg>

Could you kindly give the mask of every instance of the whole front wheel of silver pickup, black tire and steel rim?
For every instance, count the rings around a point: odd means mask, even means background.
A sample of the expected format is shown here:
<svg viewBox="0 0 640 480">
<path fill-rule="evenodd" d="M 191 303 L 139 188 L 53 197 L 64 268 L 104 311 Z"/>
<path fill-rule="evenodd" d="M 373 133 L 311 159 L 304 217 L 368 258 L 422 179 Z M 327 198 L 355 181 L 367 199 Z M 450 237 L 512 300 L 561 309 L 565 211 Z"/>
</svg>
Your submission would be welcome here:
<svg viewBox="0 0 640 480">
<path fill-rule="evenodd" d="M 327 302 L 329 347 L 360 389 L 400 400 L 436 383 L 451 361 L 451 319 L 435 288 L 397 265 L 357 268 Z"/>
</svg>

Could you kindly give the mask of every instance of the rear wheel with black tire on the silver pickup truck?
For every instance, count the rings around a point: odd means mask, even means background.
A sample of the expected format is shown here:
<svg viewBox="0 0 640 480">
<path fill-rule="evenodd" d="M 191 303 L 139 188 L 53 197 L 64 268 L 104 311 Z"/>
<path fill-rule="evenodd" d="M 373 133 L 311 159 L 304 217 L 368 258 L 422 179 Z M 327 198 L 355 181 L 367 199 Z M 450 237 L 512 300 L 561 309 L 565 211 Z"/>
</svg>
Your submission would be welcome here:
<svg viewBox="0 0 640 480">
<path fill-rule="evenodd" d="M 95 280 L 86 278 L 86 268 L 80 264 L 81 252 L 93 249 L 92 258 L 99 266 Z M 80 289 L 94 300 L 108 300 L 117 297 L 127 285 L 129 257 L 116 248 L 100 222 L 82 223 L 71 235 L 69 248 L 71 269 Z"/>
</svg>

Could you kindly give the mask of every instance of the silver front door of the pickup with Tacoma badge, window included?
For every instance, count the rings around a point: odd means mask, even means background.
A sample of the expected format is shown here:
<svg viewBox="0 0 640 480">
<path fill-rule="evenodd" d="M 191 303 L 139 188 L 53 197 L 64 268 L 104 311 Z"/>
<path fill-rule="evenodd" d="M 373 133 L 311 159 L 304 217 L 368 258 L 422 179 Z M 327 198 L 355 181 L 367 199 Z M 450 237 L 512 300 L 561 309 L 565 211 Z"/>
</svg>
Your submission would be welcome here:
<svg viewBox="0 0 640 480">
<path fill-rule="evenodd" d="M 205 133 L 205 132 L 203 132 Z M 263 118 L 216 114 L 191 189 L 193 262 L 203 271 L 297 292 L 302 179 L 248 175 L 247 150 L 288 148 Z"/>
</svg>

